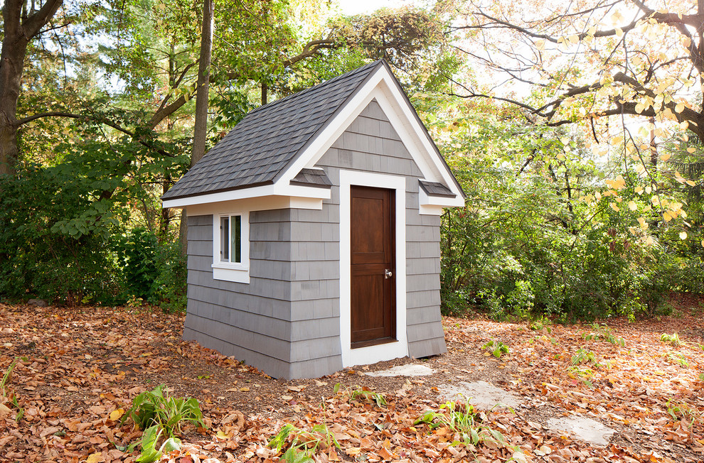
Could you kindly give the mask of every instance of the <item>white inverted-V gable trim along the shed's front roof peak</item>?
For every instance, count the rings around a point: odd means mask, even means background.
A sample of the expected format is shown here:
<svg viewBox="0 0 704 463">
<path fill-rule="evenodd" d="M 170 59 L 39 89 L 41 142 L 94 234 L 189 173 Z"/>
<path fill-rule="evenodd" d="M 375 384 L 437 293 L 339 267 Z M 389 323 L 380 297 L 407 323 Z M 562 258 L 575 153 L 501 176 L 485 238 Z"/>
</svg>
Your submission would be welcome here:
<svg viewBox="0 0 704 463">
<path fill-rule="evenodd" d="M 301 169 L 314 167 L 373 99 L 376 99 L 383 109 L 425 180 L 444 183 L 457 195 L 455 198 L 445 198 L 444 205 L 463 206 L 464 197 L 462 191 L 457 187 L 452 173 L 439 158 L 432 141 L 425 134 L 425 127 L 416 118 L 414 109 L 410 107 L 405 95 L 398 88 L 395 77 L 385 66 L 380 66 L 370 76 L 346 106 L 327 124 L 321 134 L 316 136 L 306 151 L 282 174 L 275 185 L 287 185 Z"/>
</svg>

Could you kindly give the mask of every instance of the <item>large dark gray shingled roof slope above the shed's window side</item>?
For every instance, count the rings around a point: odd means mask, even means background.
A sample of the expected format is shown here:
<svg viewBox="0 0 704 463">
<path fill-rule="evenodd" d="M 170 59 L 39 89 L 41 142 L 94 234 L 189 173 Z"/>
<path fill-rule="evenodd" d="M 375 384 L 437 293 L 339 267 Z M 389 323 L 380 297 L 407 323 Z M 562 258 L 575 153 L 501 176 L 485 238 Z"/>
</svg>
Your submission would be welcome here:
<svg viewBox="0 0 704 463">
<path fill-rule="evenodd" d="M 250 112 L 162 200 L 274 183 L 382 65 L 372 62 Z"/>
</svg>

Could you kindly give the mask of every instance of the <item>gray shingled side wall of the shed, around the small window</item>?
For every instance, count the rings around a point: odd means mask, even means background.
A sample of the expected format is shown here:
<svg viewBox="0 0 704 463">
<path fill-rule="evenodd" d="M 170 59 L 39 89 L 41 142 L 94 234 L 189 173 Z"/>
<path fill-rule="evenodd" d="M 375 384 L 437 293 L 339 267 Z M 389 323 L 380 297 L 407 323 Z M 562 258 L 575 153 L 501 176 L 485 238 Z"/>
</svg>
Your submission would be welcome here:
<svg viewBox="0 0 704 463">
<path fill-rule="evenodd" d="M 188 217 L 183 339 L 290 377 L 290 209 L 250 213 L 250 283 L 213 278 L 213 216 Z"/>
</svg>

